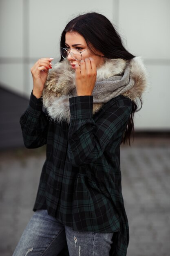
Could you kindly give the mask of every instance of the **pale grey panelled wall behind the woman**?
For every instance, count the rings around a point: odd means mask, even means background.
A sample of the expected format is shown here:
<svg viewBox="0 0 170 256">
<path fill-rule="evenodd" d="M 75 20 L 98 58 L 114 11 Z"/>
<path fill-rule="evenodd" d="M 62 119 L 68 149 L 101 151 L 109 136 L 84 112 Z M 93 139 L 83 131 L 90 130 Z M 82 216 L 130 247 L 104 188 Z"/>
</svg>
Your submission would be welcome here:
<svg viewBox="0 0 170 256">
<path fill-rule="evenodd" d="M 127 49 L 143 56 L 150 86 L 137 130 L 170 130 L 170 1 L 169 0 L 0 0 L 0 83 L 28 96 L 30 69 L 38 58 L 59 58 L 60 34 L 79 13 L 97 11 L 117 26 Z"/>
</svg>

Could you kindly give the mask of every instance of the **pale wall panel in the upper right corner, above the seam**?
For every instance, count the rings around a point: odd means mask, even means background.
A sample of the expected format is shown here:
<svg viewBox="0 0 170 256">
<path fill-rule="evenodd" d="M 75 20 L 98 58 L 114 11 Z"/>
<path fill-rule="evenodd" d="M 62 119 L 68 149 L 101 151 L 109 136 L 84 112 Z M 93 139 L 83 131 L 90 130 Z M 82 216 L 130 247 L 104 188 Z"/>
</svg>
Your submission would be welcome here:
<svg viewBox="0 0 170 256">
<path fill-rule="evenodd" d="M 119 0 L 119 29 L 135 55 L 170 58 L 170 0 Z"/>
</svg>

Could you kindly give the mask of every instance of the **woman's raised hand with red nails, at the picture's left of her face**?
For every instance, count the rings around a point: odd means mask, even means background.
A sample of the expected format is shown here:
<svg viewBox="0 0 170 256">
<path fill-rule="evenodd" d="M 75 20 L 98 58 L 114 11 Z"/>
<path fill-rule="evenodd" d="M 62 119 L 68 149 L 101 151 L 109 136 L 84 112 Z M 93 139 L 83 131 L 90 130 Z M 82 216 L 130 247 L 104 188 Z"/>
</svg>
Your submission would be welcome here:
<svg viewBox="0 0 170 256">
<path fill-rule="evenodd" d="M 37 99 L 42 96 L 49 69 L 52 68 L 51 61 L 53 61 L 53 58 L 40 58 L 33 67 L 31 67 L 31 74 L 33 76 L 33 95 Z"/>
</svg>

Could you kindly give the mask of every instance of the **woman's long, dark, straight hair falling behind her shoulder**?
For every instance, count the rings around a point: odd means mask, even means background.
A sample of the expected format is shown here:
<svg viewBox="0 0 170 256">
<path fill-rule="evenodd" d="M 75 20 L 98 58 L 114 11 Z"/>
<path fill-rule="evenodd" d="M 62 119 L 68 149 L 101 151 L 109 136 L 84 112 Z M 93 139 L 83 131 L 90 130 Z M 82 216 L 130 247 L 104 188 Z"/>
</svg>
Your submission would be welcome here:
<svg viewBox="0 0 170 256">
<path fill-rule="evenodd" d="M 125 49 L 121 37 L 112 23 L 100 13 L 85 13 L 68 22 L 61 35 L 60 47 L 66 47 L 65 35 L 67 32 L 73 31 L 84 37 L 90 51 L 97 56 L 109 59 L 122 58 L 125 60 L 131 60 L 135 57 Z M 102 55 L 97 54 L 96 50 L 101 52 Z M 60 61 L 62 60 L 61 56 Z M 132 101 L 132 112 L 122 139 L 124 143 L 127 141 L 130 144 L 130 135 L 134 132 L 133 117 L 137 108 L 137 103 Z"/>
</svg>

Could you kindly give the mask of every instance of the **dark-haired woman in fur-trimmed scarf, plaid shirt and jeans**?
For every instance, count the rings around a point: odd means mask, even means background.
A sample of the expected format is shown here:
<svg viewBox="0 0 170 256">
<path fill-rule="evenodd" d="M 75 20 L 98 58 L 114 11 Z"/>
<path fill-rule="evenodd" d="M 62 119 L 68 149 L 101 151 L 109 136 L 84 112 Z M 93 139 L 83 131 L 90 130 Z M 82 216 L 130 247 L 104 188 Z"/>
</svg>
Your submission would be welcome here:
<svg viewBox="0 0 170 256">
<path fill-rule="evenodd" d="M 145 67 L 99 13 L 71 20 L 60 46 L 59 63 L 41 58 L 31 68 L 20 124 L 27 148 L 46 144 L 46 161 L 35 213 L 13 255 L 125 256 L 119 152 L 130 141 Z"/>
</svg>

